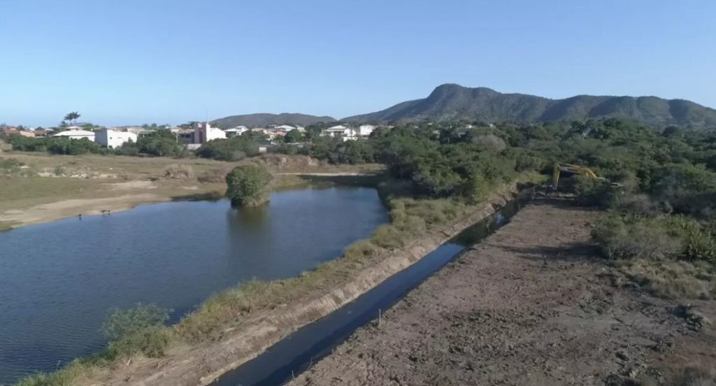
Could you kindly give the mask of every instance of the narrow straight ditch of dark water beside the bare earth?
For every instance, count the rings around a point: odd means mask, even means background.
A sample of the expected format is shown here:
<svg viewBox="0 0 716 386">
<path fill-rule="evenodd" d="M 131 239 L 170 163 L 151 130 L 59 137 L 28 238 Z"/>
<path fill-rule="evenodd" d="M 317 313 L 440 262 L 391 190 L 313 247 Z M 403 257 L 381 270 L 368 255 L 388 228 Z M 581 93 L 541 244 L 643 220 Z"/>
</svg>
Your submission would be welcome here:
<svg viewBox="0 0 716 386">
<path fill-rule="evenodd" d="M 465 229 L 412 266 L 391 276 L 358 299 L 332 314 L 309 324 L 266 352 L 227 372 L 213 386 L 275 386 L 282 385 L 308 368 L 311 363 L 329 354 L 357 328 L 378 316 L 379 310 L 390 308 L 411 289 L 435 273 L 465 249 L 508 223 L 526 203 L 515 199 L 493 216 Z"/>
</svg>

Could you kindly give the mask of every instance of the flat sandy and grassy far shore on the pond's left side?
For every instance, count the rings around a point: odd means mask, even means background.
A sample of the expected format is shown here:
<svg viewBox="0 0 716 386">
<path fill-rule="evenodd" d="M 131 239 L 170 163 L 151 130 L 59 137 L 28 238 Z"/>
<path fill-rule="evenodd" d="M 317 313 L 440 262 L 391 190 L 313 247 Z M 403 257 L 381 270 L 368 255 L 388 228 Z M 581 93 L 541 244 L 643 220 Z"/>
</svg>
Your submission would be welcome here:
<svg viewBox="0 0 716 386">
<path fill-rule="evenodd" d="M 37 153 L 3 153 L 0 159 L 24 164 L 20 173 L 6 176 L 0 184 L 0 231 L 80 215 L 126 211 L 147 203 L 221 198 L 226 191 L 222 173 L 240 164 L 200 158 Z M 244 162 L 254 161 L 263 161 L 276 173 L 277 188 L 305 184 L 300 178 L 304 174 L 338 178 L 376 170 L 373 166 L 333 167 L 290 156 Z M 193 175 L 167 178 L 165 171 L 173 165 L 187 165 Z"/>
</svg>

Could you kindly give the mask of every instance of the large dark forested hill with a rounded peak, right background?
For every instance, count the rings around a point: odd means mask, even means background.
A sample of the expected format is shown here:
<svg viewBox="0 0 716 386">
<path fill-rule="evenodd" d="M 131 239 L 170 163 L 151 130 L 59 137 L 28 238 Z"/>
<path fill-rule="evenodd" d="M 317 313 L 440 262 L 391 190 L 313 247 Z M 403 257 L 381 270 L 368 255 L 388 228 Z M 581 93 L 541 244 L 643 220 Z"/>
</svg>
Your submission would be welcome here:
<svg viewBox="0 0 716 386">
<path fill-rule="evenodd" d="M 425 99 L 402 102 L 379 112 L 347 117 L 347 122 L 404 120 L 482 120 L 549 122 L 619 117 L 656 127 L 716 127 L 716 110 L 688 100 L 659 97 L 599 97 L 578 95 L 563 100 L 526 94 L 503 94 L 486 87 L 441 85 Z"/>
</svg>

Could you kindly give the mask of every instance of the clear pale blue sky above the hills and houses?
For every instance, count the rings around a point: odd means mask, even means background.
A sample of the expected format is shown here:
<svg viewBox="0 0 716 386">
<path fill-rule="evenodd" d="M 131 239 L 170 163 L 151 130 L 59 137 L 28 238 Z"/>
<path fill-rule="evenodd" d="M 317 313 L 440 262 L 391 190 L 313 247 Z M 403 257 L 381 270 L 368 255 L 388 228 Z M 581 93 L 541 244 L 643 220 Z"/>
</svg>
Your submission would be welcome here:
<svg viewBox="0 0 716 386">
<path fill-rule="evenodd" d="M 340 118 L 442 83 L 716 107 L 716 1 L 0 0 L 0 122 Z"/>
</svg>

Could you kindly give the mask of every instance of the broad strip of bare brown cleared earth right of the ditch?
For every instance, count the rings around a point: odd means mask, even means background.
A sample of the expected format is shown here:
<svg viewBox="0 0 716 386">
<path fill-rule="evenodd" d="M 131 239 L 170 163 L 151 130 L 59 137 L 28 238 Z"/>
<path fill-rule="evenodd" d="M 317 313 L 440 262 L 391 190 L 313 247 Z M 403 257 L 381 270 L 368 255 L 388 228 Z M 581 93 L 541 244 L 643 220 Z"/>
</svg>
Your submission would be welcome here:
<svg viewBox="0 0 716 386">
<path fill-rule="evenodd" d="M 528 206 L 289 385 L 634 385 L 716 364 L 713 327 L 614 286 L 588 243 L 594 216 Z"/>
</svg>

